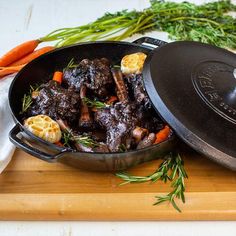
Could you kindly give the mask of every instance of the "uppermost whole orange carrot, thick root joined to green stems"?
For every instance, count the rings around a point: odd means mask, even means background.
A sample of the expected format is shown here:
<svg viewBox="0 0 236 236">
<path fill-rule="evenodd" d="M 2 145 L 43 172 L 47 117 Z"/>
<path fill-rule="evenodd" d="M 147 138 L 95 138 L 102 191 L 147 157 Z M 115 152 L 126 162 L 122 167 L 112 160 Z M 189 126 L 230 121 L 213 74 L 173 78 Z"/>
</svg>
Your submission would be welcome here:
<svg viewBox="0 0 236 236">
<path fill-rule="evenodd" d="M 0 58 L 0 66 L 8 66 L 33 52 L 39 43 L 39 40 L 31 40 L 16 46 Z"/>
</svg>

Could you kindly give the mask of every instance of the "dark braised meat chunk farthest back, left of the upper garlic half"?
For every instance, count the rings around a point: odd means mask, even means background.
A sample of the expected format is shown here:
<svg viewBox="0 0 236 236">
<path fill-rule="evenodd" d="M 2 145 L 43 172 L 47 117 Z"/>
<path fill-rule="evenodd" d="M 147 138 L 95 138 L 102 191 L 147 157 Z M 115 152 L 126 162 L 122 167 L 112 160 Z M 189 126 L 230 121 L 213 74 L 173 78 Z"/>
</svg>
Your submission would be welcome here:
<svg viewBox="0 0 236 236">
<path fill-rule="evenodd" d="M 80 91 L 81 86 L 85 85 L 101 99 L 106 98 L 114 84 L 110 62 L 106 58 L 84 59 L 77 67 L 65 69 L 63 81 L 69 86 L 74 86 L 77 91 Z"/>
</svg>

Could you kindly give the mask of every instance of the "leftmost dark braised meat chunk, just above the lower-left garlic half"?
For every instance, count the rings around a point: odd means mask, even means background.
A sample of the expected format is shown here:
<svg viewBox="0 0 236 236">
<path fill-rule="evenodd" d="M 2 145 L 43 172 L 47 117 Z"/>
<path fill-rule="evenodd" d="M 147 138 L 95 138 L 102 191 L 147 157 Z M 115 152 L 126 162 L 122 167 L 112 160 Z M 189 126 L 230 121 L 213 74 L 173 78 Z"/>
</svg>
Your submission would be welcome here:
<svg viewBox="0 0 236 236">
<path fill-rule="evenodd" d="M 79 104 L 80 97 L 75 89 L 64 89 L 51 80 L 41 86 L 28 115 L 48 115 L 54 120 L 62 119 L 72 124 L 78 119 Z"/>
</svg>

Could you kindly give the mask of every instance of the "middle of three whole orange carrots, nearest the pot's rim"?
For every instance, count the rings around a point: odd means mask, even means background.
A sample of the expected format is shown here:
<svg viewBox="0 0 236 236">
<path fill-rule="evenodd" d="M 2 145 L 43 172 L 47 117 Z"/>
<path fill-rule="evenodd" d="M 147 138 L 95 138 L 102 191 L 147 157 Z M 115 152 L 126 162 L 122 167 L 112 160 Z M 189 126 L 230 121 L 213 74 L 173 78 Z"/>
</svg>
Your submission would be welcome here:
<svg viewBox="0 0 236 236">
<path fill-rule="evenodd" d="M 49 51 L 53 50 L 53 49 L 54 49 L 54 47 L 52 47 L 52 46 L 47 46 L 47 47 L 40 48 L 38 50 L 35 50 L 35 51 L 27 54 L 26 56 L 20 58 L 19 60 L 13 62 L 12 64 L 10 64 L 10 66 L 19 66 L 19 65 L 22 65 L 22 64 L 27 64 L 30 61 L 32 61 L 33 59 L 35 59 L 35 58 L 43 55 L 46 52 L 49 52 Z"/>
</svg>

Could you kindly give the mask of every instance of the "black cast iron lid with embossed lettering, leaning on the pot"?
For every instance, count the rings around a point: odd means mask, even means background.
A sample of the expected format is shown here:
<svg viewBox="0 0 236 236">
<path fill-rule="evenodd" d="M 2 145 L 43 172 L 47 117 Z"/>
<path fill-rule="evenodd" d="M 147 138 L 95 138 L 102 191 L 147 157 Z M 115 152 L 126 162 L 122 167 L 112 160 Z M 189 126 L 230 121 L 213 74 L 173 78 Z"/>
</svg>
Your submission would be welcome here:
<svg viewBox="0 0 236 236">
<path fill-rule="evenodd" d="M 236 55 L 197 42 L 153 50 L 144 83 L 153 105 L 196 151 L 236 170 Z"/>
</svg>

